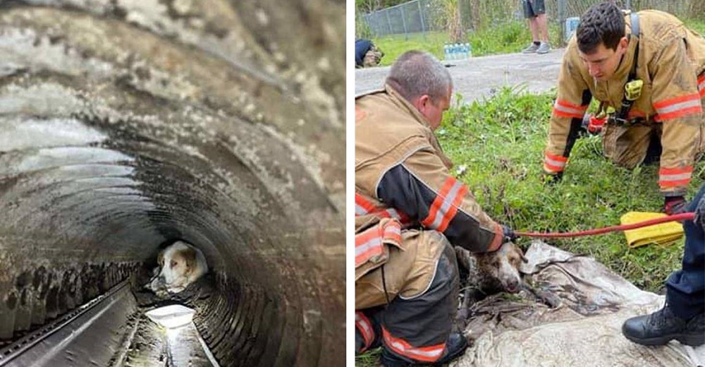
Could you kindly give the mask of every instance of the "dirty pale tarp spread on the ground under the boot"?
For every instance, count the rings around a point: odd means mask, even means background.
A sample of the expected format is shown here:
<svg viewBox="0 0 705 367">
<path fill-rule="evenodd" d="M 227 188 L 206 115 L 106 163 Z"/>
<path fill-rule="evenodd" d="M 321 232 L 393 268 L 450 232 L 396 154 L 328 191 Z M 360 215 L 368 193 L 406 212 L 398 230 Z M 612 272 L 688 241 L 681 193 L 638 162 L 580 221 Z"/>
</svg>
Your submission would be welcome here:
<svg viewBox="0 0 705 367">
<path fill-rule="evenodd" d="M 657 311 L 665 296 L 635 287 L 593 258 L 534 241 L 525 278 L 560 298 L 558 308 L 520 296 L 491 296 L 472 306 L 465 335 L 474 344 L 451 367 L 703 366 L 705 345 L 671 341 L 644 347 L 623 337 L 627 318 Z"/>
</svg>

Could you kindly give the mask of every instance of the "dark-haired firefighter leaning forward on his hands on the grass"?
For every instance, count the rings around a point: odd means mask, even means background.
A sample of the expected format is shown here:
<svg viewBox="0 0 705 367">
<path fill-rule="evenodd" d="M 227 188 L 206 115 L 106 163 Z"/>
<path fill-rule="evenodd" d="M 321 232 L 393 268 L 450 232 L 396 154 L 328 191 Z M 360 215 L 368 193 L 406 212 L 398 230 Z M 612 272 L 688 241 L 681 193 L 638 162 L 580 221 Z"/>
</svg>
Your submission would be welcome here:
<svg viewBox="0 0 705 367">
<path fill-rule="evenodd" d="M 668 13 L 625 16 L 612 2 L 591 6 L 563 55 L 544 152 L 547 181 L 563 175 L 592 98 L 606 120 L 606 157 L 627 169 L 660 160 L 663 210 L 682 212 L 705 150 L 705 39 Z"/>
</svg>

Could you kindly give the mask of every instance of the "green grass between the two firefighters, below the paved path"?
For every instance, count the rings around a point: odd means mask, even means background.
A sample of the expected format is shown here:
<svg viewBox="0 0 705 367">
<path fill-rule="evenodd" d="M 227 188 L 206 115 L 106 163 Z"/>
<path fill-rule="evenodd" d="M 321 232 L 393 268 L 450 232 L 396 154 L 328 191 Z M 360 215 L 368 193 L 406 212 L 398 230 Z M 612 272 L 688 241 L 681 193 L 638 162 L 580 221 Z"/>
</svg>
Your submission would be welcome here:
<svg viewBox="0 0 705 367">
<path fill-rule="evenodd" d="M 658 166 L 621 169 L 602 156 L 599 136 L 575 144 L 563 181 L 541 179 L 548 118 L 555 92 L 531 94 L 521 87 L 503 88 L 485 100 L 455 106 L 436 131 L 454 172 L 478 203 L 498 222 L 521 231 L 579 231 L 619 224 L 630 211 L 660 211 Z M 692 197 L 705 179 L 705 162 L 696 164 L 689 187 Z M 680 267 L 683 241 L 628 248 L 622 232 L 549 240 L 572 253 L 591 255 L 613 272 L 647 291 L 662 291 L 666 278 Z M 520 239 L 528 246 L 528 239 Z M 355 366 L 376 366 L 379 351 L 357 356 Z"/>
</svg>

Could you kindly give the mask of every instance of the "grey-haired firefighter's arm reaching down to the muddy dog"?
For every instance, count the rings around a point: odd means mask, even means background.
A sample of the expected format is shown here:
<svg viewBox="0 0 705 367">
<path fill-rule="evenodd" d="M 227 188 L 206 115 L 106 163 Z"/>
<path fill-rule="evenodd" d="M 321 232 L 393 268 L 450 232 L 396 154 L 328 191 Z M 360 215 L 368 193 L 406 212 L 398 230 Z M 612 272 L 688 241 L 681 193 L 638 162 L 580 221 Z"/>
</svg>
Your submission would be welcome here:
<svg viewBox="0 0 705 367">
<path fill-rule="evenodd" d="M 450 176 L 431 150 L 415 152 L 384 172 L 376 195 L 424 228 L 442 232 L 455 246 L 486 252 L 503 243 L 503 227 L 482 211 L 467 186 Z"/>
</svg>

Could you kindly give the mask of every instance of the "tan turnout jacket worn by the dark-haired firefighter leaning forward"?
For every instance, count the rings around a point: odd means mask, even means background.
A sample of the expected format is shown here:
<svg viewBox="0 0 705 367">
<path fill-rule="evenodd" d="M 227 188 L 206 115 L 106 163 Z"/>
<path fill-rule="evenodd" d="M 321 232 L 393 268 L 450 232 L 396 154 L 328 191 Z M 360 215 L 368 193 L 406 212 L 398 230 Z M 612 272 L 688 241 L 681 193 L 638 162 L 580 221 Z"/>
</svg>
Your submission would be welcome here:
<svg viewBox="0 0 705 367">
<path fill-rule="evenodd" d="M 558 96 L 544 152 L 544 172 L 559 174 L 565 169 L 591 98 L 599 100 L 603 109 L 620 110 L 625 83 L 638 50 L 635 79 L 643 80 L 644 84 L 627 116 L 627 121 L 636 124 L 627 122 L 619 127 L 625 132 L 639 126 L 660 129 L 663 150 L 658 186 L 666 196 L 684 195 L 694 160 L 705 146 L 705 137 L 701 136 L 705 124 L 702 107 L 705 103 L 705 38 L 685 28 L 678 18 L 661 11 L 639 11 L 638 19 L 639 35 L 635 37 L 631 34 L 630 16 L 625 17 L 629 45 L 610 80 L 594 80 L 580 59 L 575 36 L 570 40 L 558 77 Z M 606 128 L 614 131 L 615 126 Z M 609 156 L 608 131 L 604 138 Z"/>
</svg>

